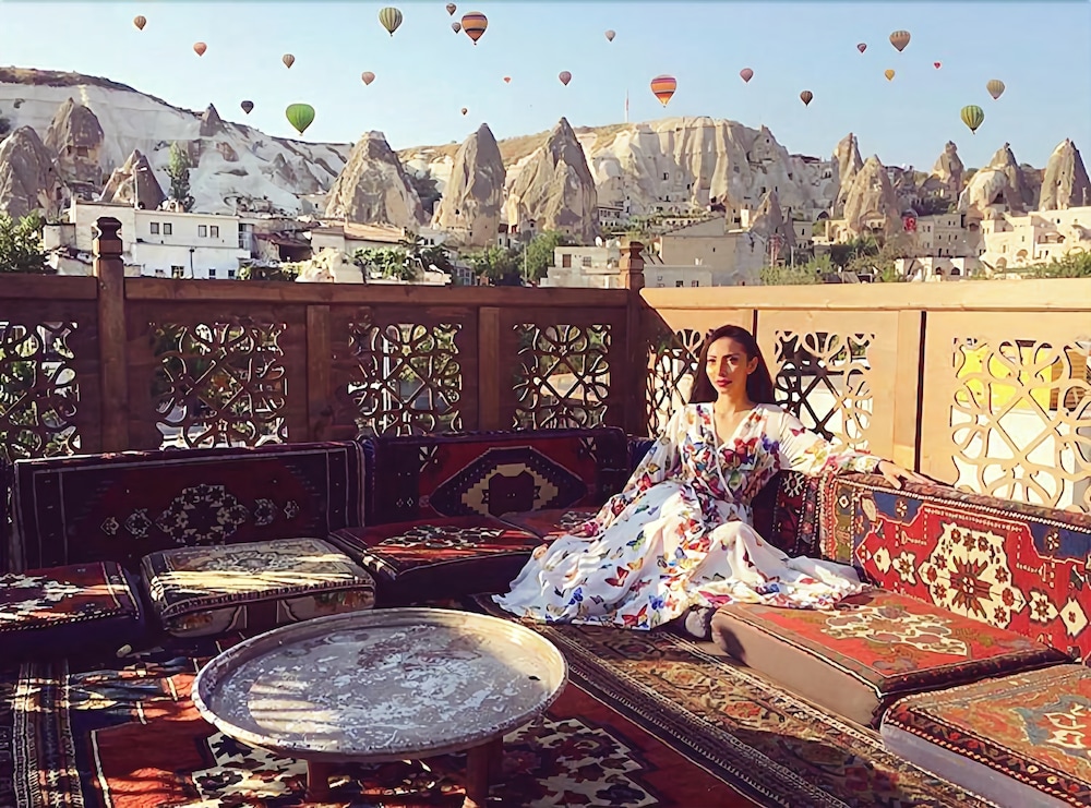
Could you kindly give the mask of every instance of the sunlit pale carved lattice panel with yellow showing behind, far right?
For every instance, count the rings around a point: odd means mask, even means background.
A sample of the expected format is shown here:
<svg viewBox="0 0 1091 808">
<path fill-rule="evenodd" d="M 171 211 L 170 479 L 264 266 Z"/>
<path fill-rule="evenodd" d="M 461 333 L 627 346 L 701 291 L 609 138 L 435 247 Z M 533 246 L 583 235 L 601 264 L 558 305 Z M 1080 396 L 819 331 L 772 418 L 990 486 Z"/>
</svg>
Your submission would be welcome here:
<svg viewBox="0 0 1091 808">
<path fill-rule="evenodd" d="M 1091 511 L 1087 313 L 933 314 L 922 468 L 961 489 Z"/>
</svg>

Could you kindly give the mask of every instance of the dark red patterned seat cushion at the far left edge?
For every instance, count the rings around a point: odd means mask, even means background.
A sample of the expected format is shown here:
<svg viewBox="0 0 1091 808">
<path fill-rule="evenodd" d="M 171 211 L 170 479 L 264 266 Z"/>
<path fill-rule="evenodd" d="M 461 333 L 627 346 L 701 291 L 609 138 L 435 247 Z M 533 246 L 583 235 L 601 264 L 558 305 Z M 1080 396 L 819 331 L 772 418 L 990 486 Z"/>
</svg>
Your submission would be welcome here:
<svg viewBox="0 0 1091 808">
<path fill-rule="evenodd" d="M 0 575 L 0 662 L 118 651 L 143 632 L 140 579 L 113 562 Z"/>
</svg>

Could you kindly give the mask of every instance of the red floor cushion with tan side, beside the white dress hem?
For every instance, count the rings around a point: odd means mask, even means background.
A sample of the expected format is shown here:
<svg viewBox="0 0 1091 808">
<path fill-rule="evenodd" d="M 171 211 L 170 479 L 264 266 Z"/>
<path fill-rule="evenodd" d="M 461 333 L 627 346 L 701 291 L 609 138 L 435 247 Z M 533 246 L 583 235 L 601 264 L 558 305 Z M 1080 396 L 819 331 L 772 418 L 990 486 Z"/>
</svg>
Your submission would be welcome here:
<svg viewBox="0 0 1091 808">
<path fill-rule="evenodd" d="M 1015 631 L 885 590 L 831 611 L 728 604 L 712 616 L 712 639 L 790 690 L 873 727 L 901 696 L 1069 661 Z"/>
</svg>

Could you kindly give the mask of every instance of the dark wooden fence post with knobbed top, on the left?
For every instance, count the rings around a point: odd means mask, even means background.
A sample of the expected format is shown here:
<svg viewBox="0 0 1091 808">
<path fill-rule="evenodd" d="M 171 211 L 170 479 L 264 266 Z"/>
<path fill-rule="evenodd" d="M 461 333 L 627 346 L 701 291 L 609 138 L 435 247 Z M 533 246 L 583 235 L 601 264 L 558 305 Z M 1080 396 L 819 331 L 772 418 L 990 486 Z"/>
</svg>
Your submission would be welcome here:
<svg viewBox="0 0 1091 808">
<path fill-rule="evenodd" d="M 121 258 L 121 222 L 104 216 L 92 242 L 98 278 L 98 361 L 101 381 L 100 451 L 129 448 L 129 367 L 125 355 L 125 263 Z"/>
</svg>

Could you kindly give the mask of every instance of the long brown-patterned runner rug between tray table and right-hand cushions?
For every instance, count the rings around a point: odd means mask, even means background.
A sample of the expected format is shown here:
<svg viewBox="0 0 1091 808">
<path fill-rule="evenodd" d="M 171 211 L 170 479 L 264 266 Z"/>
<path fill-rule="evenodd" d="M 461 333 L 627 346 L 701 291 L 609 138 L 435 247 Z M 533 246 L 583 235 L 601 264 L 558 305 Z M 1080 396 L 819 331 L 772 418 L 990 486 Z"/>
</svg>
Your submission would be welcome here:
<svg viewBox="0 0 1091 808">
<path fill-rule="evenodd" d="M 839 721 L 670 629 L 519 620 L 489 598 L 465 607 L 521 623 L 568 660 L 570 678 L 687 760 L 769 806 L 992 806 L 890 755 Z"/>
</svg>

